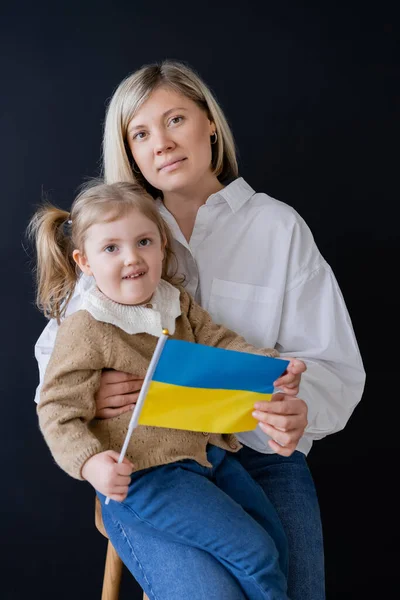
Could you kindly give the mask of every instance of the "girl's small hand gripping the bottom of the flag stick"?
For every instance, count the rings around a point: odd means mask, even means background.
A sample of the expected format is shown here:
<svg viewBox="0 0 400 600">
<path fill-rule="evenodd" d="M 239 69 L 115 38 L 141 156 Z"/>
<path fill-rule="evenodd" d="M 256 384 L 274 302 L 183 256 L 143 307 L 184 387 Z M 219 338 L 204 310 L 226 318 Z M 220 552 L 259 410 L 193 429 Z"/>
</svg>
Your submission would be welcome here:
<svg viewBox="0 0 400 600">
<path fill-rule="evenodd" d="M 104 496 L 122 502 L 128 494 L 133 465 L 127 458 L 118 463 L 118 458 L 114 450 L 95 454 L 83 465 L 82 477 Z"/>
</svg>

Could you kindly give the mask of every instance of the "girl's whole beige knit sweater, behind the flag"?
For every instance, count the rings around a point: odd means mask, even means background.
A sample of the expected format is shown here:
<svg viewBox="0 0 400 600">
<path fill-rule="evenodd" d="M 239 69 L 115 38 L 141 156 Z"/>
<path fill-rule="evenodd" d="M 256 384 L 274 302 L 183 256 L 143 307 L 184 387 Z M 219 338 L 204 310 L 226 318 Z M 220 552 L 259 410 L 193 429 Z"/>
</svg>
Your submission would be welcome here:
<svg viewBox="0 0 400 600">
<path fill-rule="evenodd" d="M 236 333 L 216 325 L 183 288 L 179 292 L 177 312 L 180 301 L 181 314 L 176 318 L 172 338 L 278 356 L 276 350 L 256 349 Z M 146 307 L 149 310 L 151 305 Z M 161 326 L 165 327 L 162 323 Z M 131 412 L 110 419 L 95 418 L 95 394 L 102 370 L 115 369 L 144 377 L 157 341 L 156 335 L 127 333 L 115 324 L 101 322 L 87 310 L 79 310 L 60 325 L 37 412 L 55 461 L 72 477 L 83 479 L 82 467 L 94 454 L 110 449 L 120 452 L 127 433 Z M 206 454 L 208 443 L 231 452 L 241 447 L 231 434 L 139 425 L 126 456 L 136 471 L 183 459 L 211 466 Z"/>
</svg>

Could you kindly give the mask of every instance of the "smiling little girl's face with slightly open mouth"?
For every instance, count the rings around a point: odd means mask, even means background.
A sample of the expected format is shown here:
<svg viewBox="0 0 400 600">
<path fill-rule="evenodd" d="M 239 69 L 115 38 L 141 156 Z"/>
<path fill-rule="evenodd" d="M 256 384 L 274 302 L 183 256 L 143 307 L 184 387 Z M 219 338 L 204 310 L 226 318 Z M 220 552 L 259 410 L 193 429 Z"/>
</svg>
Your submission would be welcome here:
<svg viewBox="0 0 400 600">
<path fill-rule="evenodd" d="M 73 257 L 114 302 L 144 304 L 161 279 L 164 243 L 157 225 L 132 209 L 116 221 L 89 227 L 85 253 L 74 250 Z"/>
</svg>

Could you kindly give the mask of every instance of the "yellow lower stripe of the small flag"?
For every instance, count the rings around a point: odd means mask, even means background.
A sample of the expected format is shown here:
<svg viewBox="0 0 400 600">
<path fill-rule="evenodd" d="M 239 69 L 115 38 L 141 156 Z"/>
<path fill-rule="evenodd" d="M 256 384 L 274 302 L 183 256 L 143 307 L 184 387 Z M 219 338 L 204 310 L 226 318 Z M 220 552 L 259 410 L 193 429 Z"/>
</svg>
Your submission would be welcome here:
<svg viewBox="0 0 400 600">
<path fill-rule="evenodd" d="M 251 431 L 258 424 L 251 415 L 254 403 L 269 400 L 271 394 L 152 381 L 139 424 L 209 433 Z"/>
</svg>

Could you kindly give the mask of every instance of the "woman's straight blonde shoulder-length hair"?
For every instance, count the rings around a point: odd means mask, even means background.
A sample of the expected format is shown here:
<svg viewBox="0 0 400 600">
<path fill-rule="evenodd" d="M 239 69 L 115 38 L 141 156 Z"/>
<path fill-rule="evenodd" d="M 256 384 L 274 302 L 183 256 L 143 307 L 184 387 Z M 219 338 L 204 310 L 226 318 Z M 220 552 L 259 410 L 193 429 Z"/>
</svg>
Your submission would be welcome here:
<svg viewBox="0 0 400 600">
<path fill-rule="evenodd" d="M 132 154 L 127 143 L 128 125 L 151 93 L 169 87 L 195 102 L 215 124 L 217 142 L 212 145 L 213 173 L 221 182 L 235 179 L 238 166 L 235 142 L 222 109 L 210 88 L 184 63 L 165 60 L 145 65 L 127 76 L 116 88 L 108 104 L 103 136 L 103 176 L 107 183 L 137 181 L 153 196 L 160 191 L 132 170 Z"/>
</svg>

